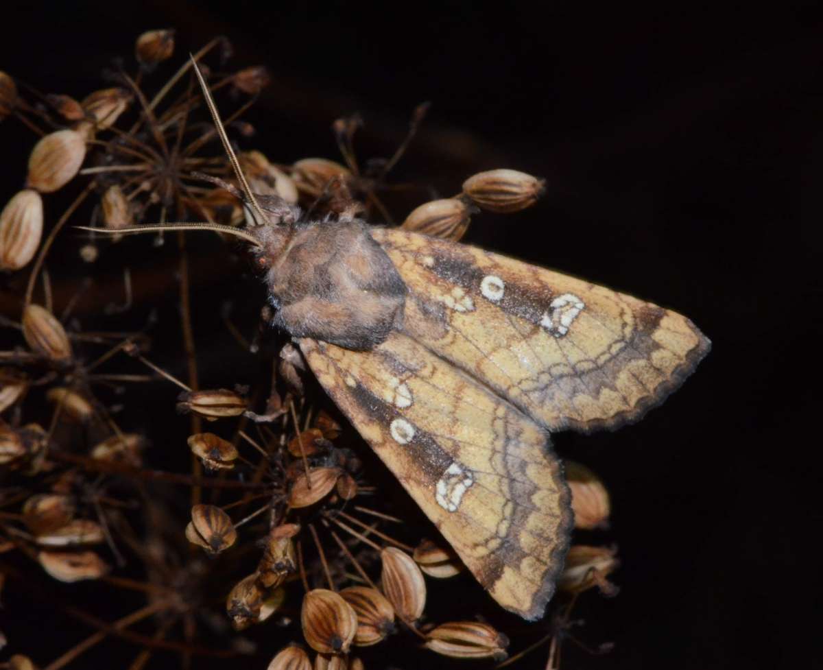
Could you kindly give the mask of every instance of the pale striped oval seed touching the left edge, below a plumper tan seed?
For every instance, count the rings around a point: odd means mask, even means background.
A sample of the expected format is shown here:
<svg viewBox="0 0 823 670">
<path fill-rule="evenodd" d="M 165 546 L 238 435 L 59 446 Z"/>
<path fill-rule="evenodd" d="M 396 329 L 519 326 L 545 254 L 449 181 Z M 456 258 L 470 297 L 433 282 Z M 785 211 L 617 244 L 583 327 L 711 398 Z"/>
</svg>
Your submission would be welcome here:
<svg viewBox="0 0 823 670">
<path fill-rule="evenodd" d="M 0 212 L 0 270 L 19 270 L 34 257 L 43 236 L 43 198 L 30 188 L 12 196 Z"/>
</svg>

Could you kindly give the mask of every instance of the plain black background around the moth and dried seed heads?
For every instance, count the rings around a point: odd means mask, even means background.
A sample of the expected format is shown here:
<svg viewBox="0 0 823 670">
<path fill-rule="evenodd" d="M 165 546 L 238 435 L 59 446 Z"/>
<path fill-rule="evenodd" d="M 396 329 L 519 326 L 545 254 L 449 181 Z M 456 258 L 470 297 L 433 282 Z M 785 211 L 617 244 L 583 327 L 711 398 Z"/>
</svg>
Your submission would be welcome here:
<svg viewBox="0 0 823 670">
<path fill-rule="evenodd" d="M 263 63 L 272 72 L 246 117 L 258 134 L 243 148 L 284 163 L 337 158 L 330 124 L 359 111 L 360 156 L 388 156 L 414 105 L 431 100 L 394 179 L 446 196 L 479 170 L 546 177 L 537 207 L 477 216 L 464 241 L 676 309 L 714 347 L 638 425 L 556 439 L 607 482 L 612 528 L 588 539 L 617 542 L 622 559 L 614 575 L 621 593 L 608 601 L 587 594 L 594 604 L 582 616 L 591 621 L 578 631 L 589 644 L 613 641 L 614 651 L 595 658 L 568 645 L 565 667 L 792 666 L 806 617 L 792 601 L 812 602 L 819 571 L 793 530 L 820 520 L 802 482 L 820 440 L 789 432 L 813 423 L 814 407 L 804 385 L 783 376 L 811 369 L 806 352 L 819 325 L 809 314 L 819 305 L 799 305 L 820 294 L 797 281 L 812 254 L 819 258 L 811 230 L 820 213 L 823 54 L 814 3 L 760 16 L 751 7 L 604 12 L 582 3 L 539 11 L 398 4 L 388 16 L 294 4 L 6 7 L 0 68 L 81 97 L 101 86 L 112 58 L 131 63 L 142 30 L 176 28 L 175 58 L 222 34 L 234 44 L 234 67 Z M 0 125 L 0 200 L 23 178 L 32 140 L 19 128 L 12 119 Z M 128 246 L 133 268 L 173 263 L 170 245 Z M 244 260 L 216 249 L 216 240 L 194 246 L 196 332 L 221 329 L 224 300 L 248 330 L 262 289 L 232 281 Z M 112 262 L 102 263 L 103 276 L 119 281 Z M 168 314 L 173 332 L 164 290 L 146 289 L 144 300 L 161 319 Z M 14 301 L 7 291 L 4 306 Z M 205 365 L 204 384 L 225 383 L 235 363 L 222 355 L 225 338 L 211 346 L 221 355 L 201 350 L 217 361 Z M 171 346 L 164 362 L 179 365 L 179 351 Z M 33 655 L 45 663 L 55 654 Z M 541 668 L 545 656 L 523 667 Z M 81 659 L 77 667 L 88 666 Z"/>
</svg>

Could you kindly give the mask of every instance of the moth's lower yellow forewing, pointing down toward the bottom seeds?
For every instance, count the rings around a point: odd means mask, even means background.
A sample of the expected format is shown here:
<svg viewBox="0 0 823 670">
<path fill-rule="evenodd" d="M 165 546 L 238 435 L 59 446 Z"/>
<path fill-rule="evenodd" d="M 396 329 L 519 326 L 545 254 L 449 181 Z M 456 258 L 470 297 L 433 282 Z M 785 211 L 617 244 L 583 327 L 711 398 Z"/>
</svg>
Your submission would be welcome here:
<svg viewBox="0 0 823 670">
<path fill-rule="evenodd" d="M 373 351 L 300 340 L 334 402 L 503 607 L 542 616 L 569 544 L 546 431 L 402 333 Z"/>
</svg>

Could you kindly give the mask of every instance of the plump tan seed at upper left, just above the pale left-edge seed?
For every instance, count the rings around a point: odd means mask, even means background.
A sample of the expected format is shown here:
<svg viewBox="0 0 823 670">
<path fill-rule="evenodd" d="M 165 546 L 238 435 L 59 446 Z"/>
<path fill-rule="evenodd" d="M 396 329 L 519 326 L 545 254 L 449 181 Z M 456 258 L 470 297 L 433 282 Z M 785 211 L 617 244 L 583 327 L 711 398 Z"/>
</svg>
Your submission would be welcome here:
<svg viewBox="0 0 823 670">
<path fill-rule="evenodd" d="M 35 144 L 29 156 L 26 186 L 52 193 L 68 184 L 86 158 L 86 141 L 74 130 L 58 130 Z"/>
</svg>

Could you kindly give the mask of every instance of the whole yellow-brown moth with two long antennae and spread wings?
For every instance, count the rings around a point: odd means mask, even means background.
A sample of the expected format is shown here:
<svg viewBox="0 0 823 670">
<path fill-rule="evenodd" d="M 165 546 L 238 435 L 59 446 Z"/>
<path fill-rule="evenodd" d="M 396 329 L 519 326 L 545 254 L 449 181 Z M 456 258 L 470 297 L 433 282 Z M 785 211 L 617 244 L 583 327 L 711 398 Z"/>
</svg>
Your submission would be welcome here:
<svg viewBox="0 0 823 670">
<path fill-rule="evenodd" d="M 251 221 L 159 227 L 252 244 L 274 323 L 323 389 L 491 596 L 541 617 L 573 526 L 551 434 L 639 420 L 709 340 L 686 317 L 603 286 L 253 193 L 193 65 Z"/>
</svg>

